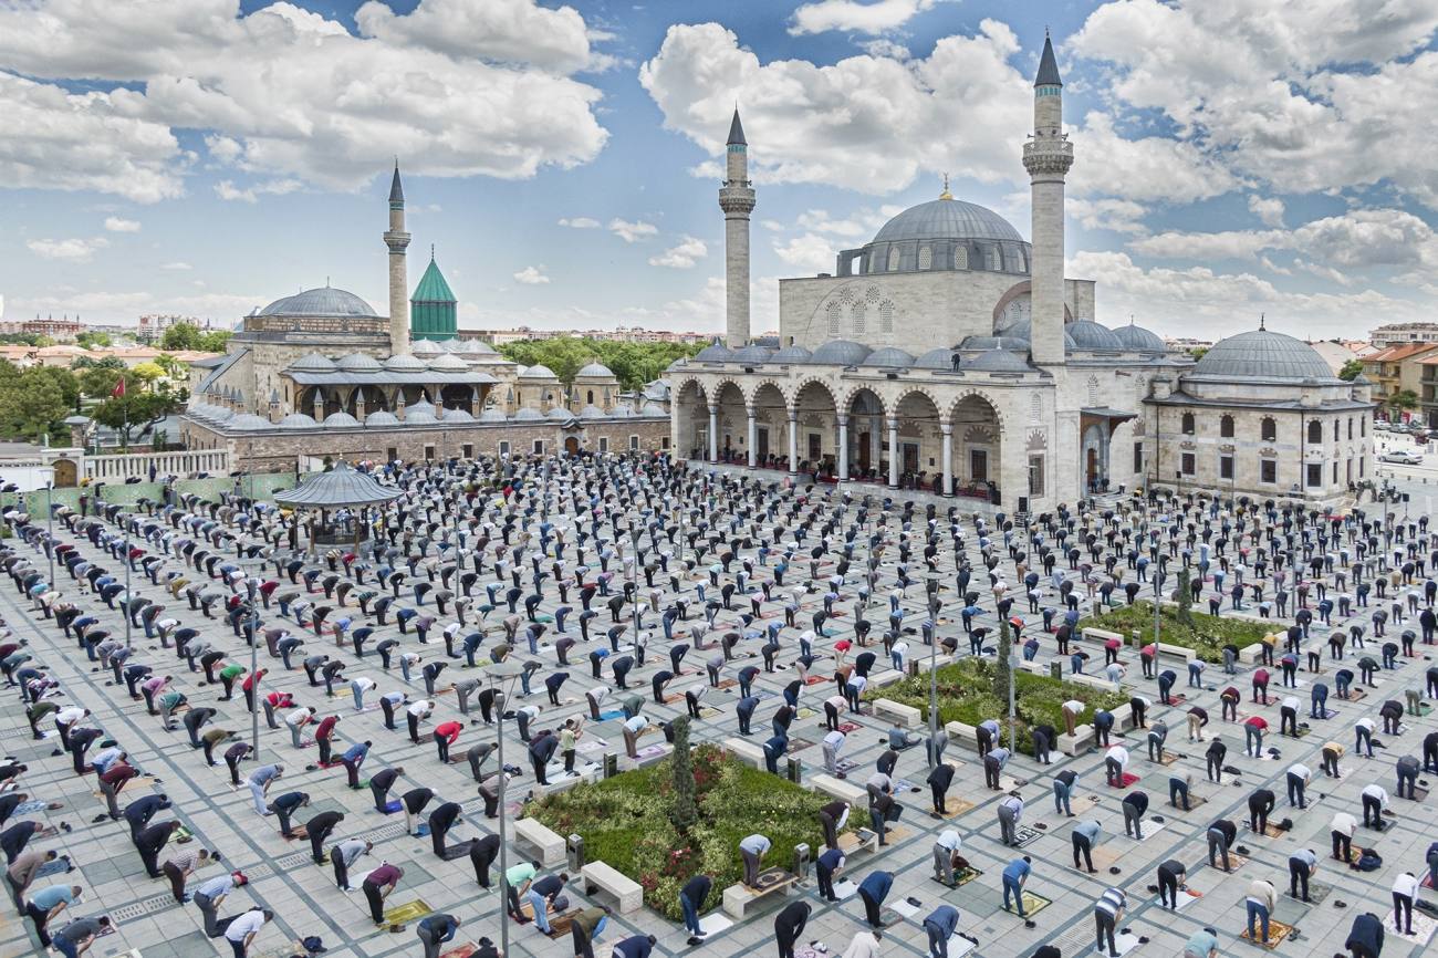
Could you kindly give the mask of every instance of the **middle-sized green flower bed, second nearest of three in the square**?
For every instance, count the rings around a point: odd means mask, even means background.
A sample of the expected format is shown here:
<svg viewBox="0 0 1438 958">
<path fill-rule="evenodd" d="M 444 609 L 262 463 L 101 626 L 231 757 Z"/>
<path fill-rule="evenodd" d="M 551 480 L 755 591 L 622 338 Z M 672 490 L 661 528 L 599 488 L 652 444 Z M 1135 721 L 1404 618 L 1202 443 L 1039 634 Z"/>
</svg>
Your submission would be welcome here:
<svg viewBox="0 0 1438 958">
<path fill-rule="evenodd" d="M 936 672 L 939 680 L 939 725 L 948 722 L 962 722 L 978 725 L 984 719 L 999 719 L 1008 734 L 1008 702 L 999 701 L 994 695 L 994 669 L 998 665 L 992 659 L 961 659 L 952 665 L 940 666 Z M 1018 711 L 1018 751 L 1031 755 L 1034 751 L 1032 738 L 1028 729 L 1032 725 L 1053 725 L 1063 729 L 1063 703 L 1068 699 L 1078 699 L 1091 709 L 1114 709 L 1129 701 L 1122 692 L 1104 692 L 1087 685 L 1063 682 L 1047 675 L 1035 675 L 1022 669 L 1015 670 L 1017 682 L 1014 702 Z M 903 705 L 912 705 L 929 718 L 929 676 L 922 675 L 903 682 L 884 686 L 871 698 L 884 698 Z M 1007 741 L 1007 738 L 1005 738 Z"/>
</svg>

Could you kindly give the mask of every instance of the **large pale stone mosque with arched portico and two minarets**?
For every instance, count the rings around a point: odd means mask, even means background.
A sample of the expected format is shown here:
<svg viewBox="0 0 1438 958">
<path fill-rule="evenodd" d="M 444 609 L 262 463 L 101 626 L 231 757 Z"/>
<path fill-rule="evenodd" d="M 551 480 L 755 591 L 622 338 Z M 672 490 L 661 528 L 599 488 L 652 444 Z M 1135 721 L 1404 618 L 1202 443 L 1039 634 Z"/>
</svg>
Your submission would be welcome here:
<svg viewBox="0 0 1438 958">
<path fill-rule="evenodd" d="M 1333 505 L 1373 475 L 1368 381 L 1334 378 L 1303 341 L 1260 324 L 1194 362 L 1132 321 L 1097 322 L 1094 282 L 1064 276 L 1074 150 L 1047 37 L 1022 163 L 1028 240 L 945 184 L 840 250 L 833 273 L 779 280 L 778 342 L 758 342 L 756 196 L 735 111 L 719 190 L 726 337 L 669 368 L 679 455 L 1007 512 L 1153 486 Z"/>
</svg>

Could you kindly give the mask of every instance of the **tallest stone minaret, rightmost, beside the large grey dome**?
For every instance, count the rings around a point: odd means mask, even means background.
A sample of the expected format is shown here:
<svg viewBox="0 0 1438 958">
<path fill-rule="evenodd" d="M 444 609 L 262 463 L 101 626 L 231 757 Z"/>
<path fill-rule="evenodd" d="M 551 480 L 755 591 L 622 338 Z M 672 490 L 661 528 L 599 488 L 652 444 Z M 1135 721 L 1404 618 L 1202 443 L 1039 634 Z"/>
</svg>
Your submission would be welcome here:
<svg viewBox="0 0 1438 958">
<path fill-rule="evenodd" d="M 1034 81 L 1034 137 L 1024 144 L 1034 207 L 1030 352 L 1037 364 L 1064 361 L 1064 175 L 1074 164 L 1074 147 L 1064 134 L 1063 86 L 1045 32 Z"/>
</svg>

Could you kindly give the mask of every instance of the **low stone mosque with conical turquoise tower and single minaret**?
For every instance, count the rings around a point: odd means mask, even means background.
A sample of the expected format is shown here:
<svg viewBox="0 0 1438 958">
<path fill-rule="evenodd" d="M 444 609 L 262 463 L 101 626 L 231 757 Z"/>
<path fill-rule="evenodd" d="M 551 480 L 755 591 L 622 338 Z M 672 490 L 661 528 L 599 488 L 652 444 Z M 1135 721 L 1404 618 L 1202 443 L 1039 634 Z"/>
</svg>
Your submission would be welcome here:
<svg viewBox="0 0 1438 958">
<path fill-rule="evenodd" d="M 240 322 L 181 417 L 187 449 L 229 449 L 244 470 L 305 457 L 452 456 L 669 447 L 664 381 L 628 396 L 598 361 L 565 386 L 457 338 L 457 301 L 430 253 L 407 293 L 404 186 L 390 186 L 390 312 L 345 289 L 282 296 Z M 413 342 L 411 342 L 413 337 Z"/>
</svg>

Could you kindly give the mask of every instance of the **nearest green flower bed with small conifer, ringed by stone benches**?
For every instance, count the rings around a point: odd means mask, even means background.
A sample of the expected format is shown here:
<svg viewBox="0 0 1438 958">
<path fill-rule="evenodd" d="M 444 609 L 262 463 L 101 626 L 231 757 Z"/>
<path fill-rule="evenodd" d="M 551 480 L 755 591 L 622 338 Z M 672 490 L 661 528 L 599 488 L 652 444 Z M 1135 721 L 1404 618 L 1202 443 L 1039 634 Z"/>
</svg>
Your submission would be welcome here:
<svg viewBox="0 0 1438 958">
<path fill-rule="evenodd" d="M 581 784 L 529 806 L 529 817 L 558 834 L 584 837 L 585 857 L 638 882 L 644 903 L 683 919 L 679 889 L 695 875 L 713 879 L 707 905 L 743 877 L 739 841 L 761 833 L 774 843 L 769 862 L 788 865 L 795 844 L 820 849 L 818 810 L 831 800 L 725 755 L 713 745 L 693 751 L 699 823 L 680 834 L 669 820 L 673 774 L 664 759 L 594 784 Z"/>
</svg>

